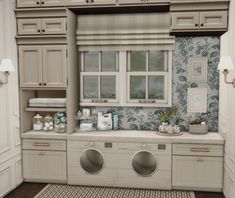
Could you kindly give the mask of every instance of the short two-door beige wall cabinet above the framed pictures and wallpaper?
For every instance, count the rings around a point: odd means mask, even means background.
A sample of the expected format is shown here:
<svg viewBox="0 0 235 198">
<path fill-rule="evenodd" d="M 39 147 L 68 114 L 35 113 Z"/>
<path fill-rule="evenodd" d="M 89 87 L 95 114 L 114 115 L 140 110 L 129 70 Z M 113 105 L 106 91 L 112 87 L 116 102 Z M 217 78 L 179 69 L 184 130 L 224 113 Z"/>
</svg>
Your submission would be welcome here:
<svg viewBox="0 0 235 198">
<path fill-rule="evenodd" d="M 172 30 L 211 30 L 227 28 L 227 11 L 172 12 Z"/>
</svg>

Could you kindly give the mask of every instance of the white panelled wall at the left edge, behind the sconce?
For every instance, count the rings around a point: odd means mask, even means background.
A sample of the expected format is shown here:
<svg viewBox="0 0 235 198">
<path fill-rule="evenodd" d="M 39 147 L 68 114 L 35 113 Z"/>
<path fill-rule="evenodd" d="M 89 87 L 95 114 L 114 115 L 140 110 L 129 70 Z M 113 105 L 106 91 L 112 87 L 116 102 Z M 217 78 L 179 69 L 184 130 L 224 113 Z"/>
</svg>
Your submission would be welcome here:
<svg viewBox="0 0 235 198">
<path fill-rule="evenodd" d="M 0 87 L 0 197 L 22 182 L 14 8 L 15 0 L 0 0 L 0 60 L 11 58 L 15 66 Z"/>
</svg>

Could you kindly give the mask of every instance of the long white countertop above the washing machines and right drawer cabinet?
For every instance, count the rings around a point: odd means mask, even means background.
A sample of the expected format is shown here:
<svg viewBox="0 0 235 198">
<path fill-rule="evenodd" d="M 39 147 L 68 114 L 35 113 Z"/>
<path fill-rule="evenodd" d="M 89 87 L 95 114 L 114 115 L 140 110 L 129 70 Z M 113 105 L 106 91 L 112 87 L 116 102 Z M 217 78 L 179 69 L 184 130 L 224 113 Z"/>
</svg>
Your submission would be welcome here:
<svg viewBox="0 0 235 198">
<path fill-rule="evenodd" d="M 165 142 L 165 143 L 206 143 L 206 144 L 224 144 L 224 138 L 216 132 L 208 134 L 190 134 L 183 133 L 180 136 L 162 136 L 154 131 L 95 131 L 95 132 L 77 132 L 68 135 L 68 140 L 81 141 L 113 141 L 113 142 Z"/>
</svg>

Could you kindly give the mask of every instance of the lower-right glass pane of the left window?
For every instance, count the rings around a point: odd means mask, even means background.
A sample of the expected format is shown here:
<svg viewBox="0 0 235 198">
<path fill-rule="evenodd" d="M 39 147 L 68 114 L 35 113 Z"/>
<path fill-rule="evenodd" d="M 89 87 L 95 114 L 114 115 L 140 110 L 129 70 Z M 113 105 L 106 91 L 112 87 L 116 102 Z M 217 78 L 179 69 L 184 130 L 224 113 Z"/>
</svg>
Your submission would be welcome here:
<svg viewBox="0 0 235 198">
<path fill-rule="evenodd" d="M 116 98 L 116 76 L 100 77 L 100 98 Z"/>
</svg>

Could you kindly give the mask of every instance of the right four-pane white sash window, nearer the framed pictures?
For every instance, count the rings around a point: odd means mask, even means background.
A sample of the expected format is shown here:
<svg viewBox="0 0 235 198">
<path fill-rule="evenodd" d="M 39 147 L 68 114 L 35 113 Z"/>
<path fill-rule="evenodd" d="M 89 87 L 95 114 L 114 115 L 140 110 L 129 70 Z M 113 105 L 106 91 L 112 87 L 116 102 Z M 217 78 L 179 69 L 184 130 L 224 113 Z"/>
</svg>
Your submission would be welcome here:
<svg viewBox="0 0 235 198">
<path fill-rule="evenodd" d="M 128 103 L 167 103 L 168 56 L 163 50 L 127 52 Z"/>
</svg>

